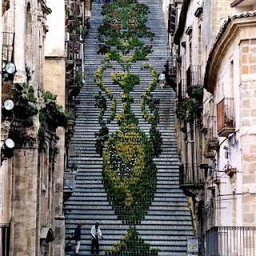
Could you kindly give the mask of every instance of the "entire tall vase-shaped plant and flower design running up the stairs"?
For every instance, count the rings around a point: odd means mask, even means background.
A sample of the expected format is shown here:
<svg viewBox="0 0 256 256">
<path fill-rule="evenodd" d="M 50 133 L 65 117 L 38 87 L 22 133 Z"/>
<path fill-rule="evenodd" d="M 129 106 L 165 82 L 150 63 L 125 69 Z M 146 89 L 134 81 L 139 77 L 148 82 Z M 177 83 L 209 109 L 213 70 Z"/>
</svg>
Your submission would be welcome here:
<svg viewBox="0 0 256 256">
<path fill-rule="evenodd" d="M 142 116 L 151 126 L 149 136 L 138 126 L 138 117 L 132 108 L 134 97 L 130 95 L 134 86 L 140 82 L 138 74 L 130 73 L 130 67 L 135 62 L 148 61 L 152 52 L 152 46 L 145 45 L 142 41 L 144 38 L 154 38 L 145 24 L 147 13 L 148 7 L 137 1 L 116 0 L 103 4 L 102 14 L 105 18 L 103 25 L 98 28 L 98 39 L 101 42 L 98 54 L 104 54 L 104 59 L 94 74 L 94 80 L 101 90 L 95 96 L 95 106 L 100 110 L 98 122 L 101 125 L 100 130 L 95 133 L 95 146 L 103 158 L 102 177 L 108 200 L 118 218 L 130 225 L 125 237 L 108 249 L 114 252 L 118 246 L 118 253 L 122 255 L 126 255 L 126 252 L 128 255 L 133 250 L 138 255 L 139 252 L 153 255 L 153 251 L 157 254 L 157 250 L 150 249 L 150 245 L 142 241 L 135 228 L 145 217 L 154 199 L 157 168 L 153 158 L 162 152 L 162 136 L 157 129 L 159 100 L 152 94 L 159 74 L 152 65 L 143 65 L 143 68 L 149 69 L 151 81 L 141 95 Z M 104 82 L 104 71 L 114 70 L 117 63 L 123 71 L 111 72 L 110 75 L 113 83 L 123 90 L 120 94 L 121 111 L 117 111 L 118 99 Z M 104 118 L 109 113 L 108 106 L 110 117 Z M 119 128 L 110 134 L 107 124 L 113 121 L 118 122 Z M 135 246 L 136 248 L 127 251 L 127 246 L 122 245 L 130 236 L 133 237 L 134 246 L 138 243 L 143 246 Z"/>
</svg>

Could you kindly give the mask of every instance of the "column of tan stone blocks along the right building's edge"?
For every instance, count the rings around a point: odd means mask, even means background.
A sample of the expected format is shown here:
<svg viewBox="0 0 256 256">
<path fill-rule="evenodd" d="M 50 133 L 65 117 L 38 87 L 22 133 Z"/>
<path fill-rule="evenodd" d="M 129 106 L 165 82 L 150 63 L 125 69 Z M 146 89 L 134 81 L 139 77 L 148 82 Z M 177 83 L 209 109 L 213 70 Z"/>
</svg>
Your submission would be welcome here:
<svg viewBox="0 0 256 256">
<path fill-rule="evenodd" d="M 256 39 L 240 43 L 240 72 L 243 222 L 256 226 Z"/>
</svg>

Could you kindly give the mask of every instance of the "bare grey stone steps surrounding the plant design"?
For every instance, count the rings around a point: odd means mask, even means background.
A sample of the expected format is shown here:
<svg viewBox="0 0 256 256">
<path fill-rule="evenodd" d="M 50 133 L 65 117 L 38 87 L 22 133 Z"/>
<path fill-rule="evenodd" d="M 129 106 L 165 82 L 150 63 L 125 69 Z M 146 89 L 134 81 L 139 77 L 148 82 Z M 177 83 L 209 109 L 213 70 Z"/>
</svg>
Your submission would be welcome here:
<svg viewBox="0 0 256 256">
<path fill-rule="evenodd" d="M 163 22 L 162 7 L 159 0 L 139 1 L 150 7 L 147 26 L 154 32 L 154 52 L 150 54 L 149 62 L 154 68 L 161 72 L 169 56 L 166 39 L 166 26 Z M 100 223 L 104 240 L 100 241 L 100 254 L 104 249 L 110 248 L 126 234 L 129 225 L 124 224 L 114 213 L 114 210 L 106 198 L 106 191 L 102 182 L 102 158 L 95 152 L 94 133 L 100 129 L 98 124 L 99 110 L 94 106 L 94 96 L 98 94 L 99 88 L 94 82 L 94 73 L 101 64 L 103 56 L 96 54 L 98 50 L 98 26 L 102 24 L 102 5 L 93 2 L 90 18 L 90 33 L 86 38 L 85 49 L 85 79 L 86 85 L 82 88 L 79 98 L 81 104 L 77 106 L 78 118 L 76 120 L 75 133 L 72 139 L 74 154 L 70 162 L 77 162 L 78 175 L 76 188 L 71 197 L 65 202 L 66 237 L 69 237 L 78 222 L 82 222 L 82 241 L 80 246 L 81 255 L 90 255 L 90 228 L 94 222 Z M 132 108 L 134 114 L 139 118 L 138 126 L 149 134 L 150 124 L 142 118 L 141 93 L 146 90 L 151 76 L 148 69 L 141 70 L 142 62 L 132 65 L 130 72 L 139 74 L 140 84 L 134 86 L 131 96 L 134 97 Z M 117 63 L 114 71 L 122 71 Z M 103 81 L 108 88 L 117 96 L 117 110 L 122 109 L 120 93 L 122 88 L 115 85 L 110 77 L 112 69 L 106 69 Z M 186 255 L 186 239 L 192 236 L 190 211 L 187 207 L 186 196 L 178 186 L 178 166 L 180 164 L 176 138 L 174 132 L 174 101 L 175 93 L 170 88 L 161 89 L 157 86 L 154 97 L 160 98 L 160 122 L 158 129 L 162 132 L 163 145 L 162 154 L 154 158 L 158 168 L 157 190 L 154 201 L 150 205 L 144 219 L 136 225 L 137 231 L 150 243 L 152 248 L 159 249 L 159 256 Z M 107 97 L 106 97 L 107 98 Z M 108 102 L 110 106 L 111 102 Z M 117 112 L 118 112 L 117 111 Z M 106 111 L 106 115 L 110 110 Z M 110 133 L 118 129 L 117 122 L 113 121 L 107 125 Z M 68 242 L 68 240 L 66 240 Z M 73 255 L 74 250 L 71 254 Z"/>
</svg>

